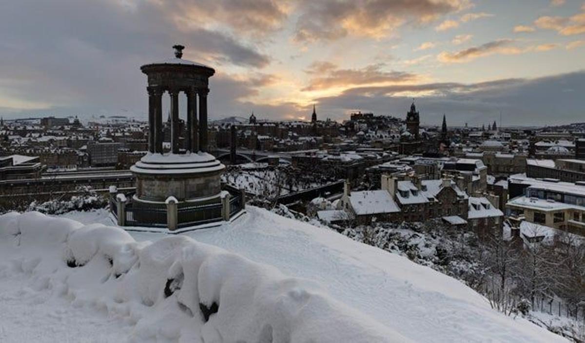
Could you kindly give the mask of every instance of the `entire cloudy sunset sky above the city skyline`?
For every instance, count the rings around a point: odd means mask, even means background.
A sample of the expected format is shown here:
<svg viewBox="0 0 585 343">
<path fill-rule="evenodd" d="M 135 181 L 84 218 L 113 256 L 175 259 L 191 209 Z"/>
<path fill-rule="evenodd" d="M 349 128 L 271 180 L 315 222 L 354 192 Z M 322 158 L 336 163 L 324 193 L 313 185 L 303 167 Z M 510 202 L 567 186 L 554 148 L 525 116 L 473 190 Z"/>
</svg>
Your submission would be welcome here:
<svg viewBox="0 0 585 343">
<path fill-rule="evenodd" d="M 0 114 L 146 118 L 139 67 L 176 43 L 212 118 L 585 121 L 583 0 L 3 0 Z"/>
</svg>

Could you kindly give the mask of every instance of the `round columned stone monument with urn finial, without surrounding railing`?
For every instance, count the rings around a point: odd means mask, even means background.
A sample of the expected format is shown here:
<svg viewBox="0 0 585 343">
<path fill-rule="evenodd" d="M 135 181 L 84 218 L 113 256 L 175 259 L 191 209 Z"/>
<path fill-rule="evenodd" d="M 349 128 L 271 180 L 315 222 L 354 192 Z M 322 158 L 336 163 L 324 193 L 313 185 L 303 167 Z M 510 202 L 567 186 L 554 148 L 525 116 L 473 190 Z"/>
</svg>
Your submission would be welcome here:
<svg viewBox="0 0 585 343">
<path fill-rule="evenodd" d="M 207 152 L 207 95 L 213 68 L 183 60 L 183 46 L 175 57 L 143 65 L 148 77 L 149 152 L 130 167 L 136 177 L 134 201 L 164 204 L 177 201 L 220 202 L 222 163 Z M 170 152 L 163 151 L 162 96 L 170 95 Z M 179 95 L 187 96 L 187 151 L 179 148 Z M 199 114 L 199 115 L 198 115 Z"/>
</svg>

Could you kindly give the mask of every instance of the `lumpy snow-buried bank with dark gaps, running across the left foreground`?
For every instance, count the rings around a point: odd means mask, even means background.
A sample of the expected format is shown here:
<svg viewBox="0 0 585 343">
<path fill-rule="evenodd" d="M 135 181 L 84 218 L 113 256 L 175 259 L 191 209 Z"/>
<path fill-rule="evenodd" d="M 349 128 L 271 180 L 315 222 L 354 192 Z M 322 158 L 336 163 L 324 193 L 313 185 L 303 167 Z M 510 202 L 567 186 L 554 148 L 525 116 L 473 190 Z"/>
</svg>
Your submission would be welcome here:
<svg viewBox="0 0 585 343">
<path fill-rule="evenodd" d="M 8 213 L 0 261 L 35 290 L 126 320 L 130 341 L 409 341 L 315 283 L 185 236 L 137 242 L 116 227 Z"/>
</svg>

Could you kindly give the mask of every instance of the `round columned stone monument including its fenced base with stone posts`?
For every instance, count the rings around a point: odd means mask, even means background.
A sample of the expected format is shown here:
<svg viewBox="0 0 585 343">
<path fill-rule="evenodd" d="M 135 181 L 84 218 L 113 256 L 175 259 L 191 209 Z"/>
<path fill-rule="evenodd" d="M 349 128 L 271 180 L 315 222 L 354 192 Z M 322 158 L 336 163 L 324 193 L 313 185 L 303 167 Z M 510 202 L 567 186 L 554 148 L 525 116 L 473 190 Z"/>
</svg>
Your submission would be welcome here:
<svg viewBox="0 0 585 343">
<path fill-rule="evenodd" d="M 149 94 L 149 151 L 130 171 L 136 192 L 112 189 L 111 209 L 121 226 L 178 227 L 229 220 L 243 209 L 243 193 L 222 190 L 225 166 L 209 154 L 207 95 L 213 68 L 175 57 L 143 65 Z M 170 96 L 170 149 L 163 149 L 162 97 Z M 187 96 L 187 120 L 180 130 L 179 96 Z M 183 138 L 183 139 L 180 139 Z M 181 147 L 181 142 L 183 146 Z M 114 196 L 115 195 L 115 196 Z"/>
</svg>

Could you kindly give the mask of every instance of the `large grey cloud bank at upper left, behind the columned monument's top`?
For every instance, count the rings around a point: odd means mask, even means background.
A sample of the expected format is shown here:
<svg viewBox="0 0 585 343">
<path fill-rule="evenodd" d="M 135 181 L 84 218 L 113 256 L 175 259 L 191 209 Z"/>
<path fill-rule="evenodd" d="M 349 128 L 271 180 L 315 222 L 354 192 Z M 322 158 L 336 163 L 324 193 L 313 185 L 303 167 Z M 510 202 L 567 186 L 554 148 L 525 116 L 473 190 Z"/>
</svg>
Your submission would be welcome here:
<svg viewBox="0 0 585 343">
<path fill-rule="evenodd" d="M 22 101 L 51 104 L 50 111 L 94 113 L 146 103 L 139 66 L 185 57 L 221 67 L 262 68 L 269 57 L 219 31 L 181 29 L 153 2 L 135 8 L 113 0 L 20 0 L 0 3 L 0 92 Z M 4 108 L 2 108 L 4 107 Z M 0 103 L 2 113 L 18 113 Z"/>
</svg>

